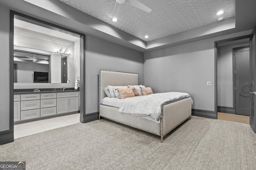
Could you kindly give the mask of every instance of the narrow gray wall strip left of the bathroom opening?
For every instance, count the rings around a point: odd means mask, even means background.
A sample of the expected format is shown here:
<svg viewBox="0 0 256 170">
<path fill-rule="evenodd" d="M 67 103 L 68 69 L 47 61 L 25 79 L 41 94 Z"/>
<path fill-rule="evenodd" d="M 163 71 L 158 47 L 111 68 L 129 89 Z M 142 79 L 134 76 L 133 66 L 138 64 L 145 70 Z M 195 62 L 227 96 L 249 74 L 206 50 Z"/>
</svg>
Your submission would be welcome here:
<svg viewBox="0 0 256 170">
<path fill-rule="evenodd" d="M 10 11 L 0 6 L 0 131 L 9 130 L 10 83 L 9 83 L 9 23 Z"/>
</svg>

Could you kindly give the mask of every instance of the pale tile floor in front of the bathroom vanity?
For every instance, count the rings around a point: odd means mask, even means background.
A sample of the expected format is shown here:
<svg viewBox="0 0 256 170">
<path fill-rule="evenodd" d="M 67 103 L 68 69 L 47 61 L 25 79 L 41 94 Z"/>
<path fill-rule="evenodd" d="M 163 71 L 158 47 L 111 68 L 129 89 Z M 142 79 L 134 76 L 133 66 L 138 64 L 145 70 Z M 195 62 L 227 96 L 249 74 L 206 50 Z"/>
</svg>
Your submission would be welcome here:
<svg viewBox="0 0 256 170">
<path fill-rule="evenodd" d="M 80 113 L 14 125 L 14 139 L 80 122 Z"/>
</svg>

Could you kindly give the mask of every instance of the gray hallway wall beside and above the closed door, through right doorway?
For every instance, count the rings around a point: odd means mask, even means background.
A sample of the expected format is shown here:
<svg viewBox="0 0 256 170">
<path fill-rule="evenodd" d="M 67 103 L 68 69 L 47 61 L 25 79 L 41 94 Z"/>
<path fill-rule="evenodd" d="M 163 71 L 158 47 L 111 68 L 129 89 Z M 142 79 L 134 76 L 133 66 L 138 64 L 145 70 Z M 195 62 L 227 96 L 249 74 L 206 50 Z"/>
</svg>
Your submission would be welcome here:
<svg viewBox="0 0 256 170">
<path fill-rule="evenodd" d="M 249 40 L 248 40 L 249 41 Z M 233 48 L 249 46 L 248 43 L 218 47 L 217 92 L 218 106 L 233 106 Z"/>
</svg>

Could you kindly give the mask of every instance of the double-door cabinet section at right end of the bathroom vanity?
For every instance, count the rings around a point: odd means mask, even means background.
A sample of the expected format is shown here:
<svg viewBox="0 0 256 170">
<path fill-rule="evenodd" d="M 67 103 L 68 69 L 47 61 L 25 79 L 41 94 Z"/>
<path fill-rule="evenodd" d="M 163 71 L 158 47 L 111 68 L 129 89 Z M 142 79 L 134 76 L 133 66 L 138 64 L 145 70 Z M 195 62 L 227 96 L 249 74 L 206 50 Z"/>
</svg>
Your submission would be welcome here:
<svg viewBox="0 0 256 170">
<path fill-rule="evenodd" d="M 79 110 L 78 92 L 57 93 L 57 114 Z"/>
</svg>

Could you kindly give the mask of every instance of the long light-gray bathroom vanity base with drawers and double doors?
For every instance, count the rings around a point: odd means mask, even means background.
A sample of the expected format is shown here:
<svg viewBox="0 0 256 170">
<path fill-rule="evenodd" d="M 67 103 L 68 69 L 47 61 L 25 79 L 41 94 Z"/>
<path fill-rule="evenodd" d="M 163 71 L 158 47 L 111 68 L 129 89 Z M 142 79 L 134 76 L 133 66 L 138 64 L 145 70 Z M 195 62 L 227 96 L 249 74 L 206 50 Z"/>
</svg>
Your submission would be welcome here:
<svg viewBox="0 0 256 170">
<path fill-rule="evenodd" d="M 78 111 L 79 91 L 14 92 L 14 122 L 16 123 L 63 113 L 78 113 Z"/>
</svg>

